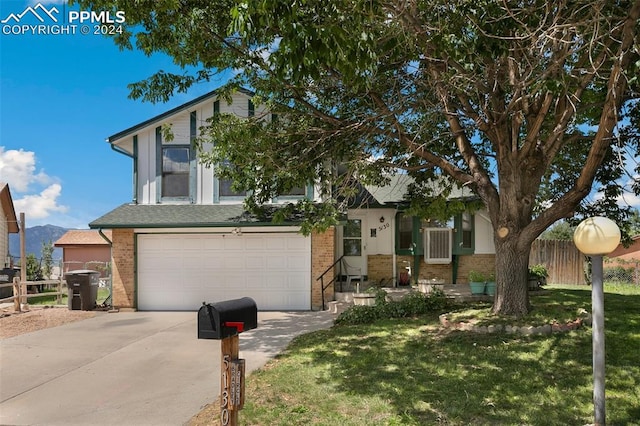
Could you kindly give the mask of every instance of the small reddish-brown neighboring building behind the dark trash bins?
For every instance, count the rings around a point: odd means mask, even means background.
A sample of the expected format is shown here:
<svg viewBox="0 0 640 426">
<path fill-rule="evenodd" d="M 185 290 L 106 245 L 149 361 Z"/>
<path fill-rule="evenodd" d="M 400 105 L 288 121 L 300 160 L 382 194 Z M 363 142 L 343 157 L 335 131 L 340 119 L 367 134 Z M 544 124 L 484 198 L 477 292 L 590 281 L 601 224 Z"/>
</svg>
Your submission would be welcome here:
<svg viewBox="0 0 640 426">
<path fill-rule="evenodd" d="M 92 229 L 72 229 L 67 231 L 53 245 L 62 248 L 62 273 L 76 269 L 99 270 L 108 275 L 107 265 L 111 262 L 111 231 L 104 231 L 104 237 Z"/>
</svg>

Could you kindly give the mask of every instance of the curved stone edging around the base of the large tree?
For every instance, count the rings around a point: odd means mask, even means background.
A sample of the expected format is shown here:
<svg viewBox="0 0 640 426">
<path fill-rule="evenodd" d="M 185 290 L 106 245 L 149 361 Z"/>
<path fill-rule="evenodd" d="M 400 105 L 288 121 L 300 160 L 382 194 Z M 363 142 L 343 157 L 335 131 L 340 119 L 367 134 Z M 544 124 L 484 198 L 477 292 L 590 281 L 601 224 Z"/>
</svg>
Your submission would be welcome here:
<svg viewBox="0 0 640 426">
<path fill-rule="evenodd" d="M 577 330 L 583 325 L 591 325 L 591 314 L 589 314 L 584 309 L 578 310 L 578 317 L 564 324 L 560 323 L 551 323 L 545 324 L 541 326 L 532 326 L 532 325 L 475 325 L 473 322 L 452 322 L 449 321 L 449 314 L 440 315 L 440 324 L 442 324 L 445 328 L 450 328 L 452 330 L 462 330 L 462 331 L 471 331 L 479 334 L 487 334 L 487 333 L 507 333 L 507 334 L 515 334 L 520 333 L 524 335 L 535 335 L 535 334 L 551 334 L 551 333 L 564 333 L 571 330 Z"/>
</svg>

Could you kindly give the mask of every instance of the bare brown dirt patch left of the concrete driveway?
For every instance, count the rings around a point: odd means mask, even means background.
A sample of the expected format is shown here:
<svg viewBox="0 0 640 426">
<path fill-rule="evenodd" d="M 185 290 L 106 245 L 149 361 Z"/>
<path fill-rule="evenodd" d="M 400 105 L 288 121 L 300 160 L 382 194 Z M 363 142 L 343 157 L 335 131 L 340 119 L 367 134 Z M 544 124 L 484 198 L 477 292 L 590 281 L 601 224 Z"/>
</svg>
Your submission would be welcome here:
<svg viewBox="0 0 640 426">
<path fill-rule="evenodd" d="M 15 312 L 12 308 L 0 313 L 0 339 L 57 327 L 96 316 L 93 311 L 70 311 L 68 308 L 30 307 L 27 312 Z"/>
</svg>

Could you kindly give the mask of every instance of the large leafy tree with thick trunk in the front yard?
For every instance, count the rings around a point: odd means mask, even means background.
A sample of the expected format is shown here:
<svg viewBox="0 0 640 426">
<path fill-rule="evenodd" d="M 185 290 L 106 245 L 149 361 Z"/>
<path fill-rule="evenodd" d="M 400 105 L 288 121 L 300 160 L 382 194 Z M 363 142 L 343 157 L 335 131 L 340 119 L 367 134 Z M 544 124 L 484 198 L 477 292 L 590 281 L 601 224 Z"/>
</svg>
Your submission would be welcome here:
<svg viewBox="0 0 640 426">
<path fill-rule="evenodd" d="M 79 3 L 125 11 L 117 43 L 185 68 L 132 84 L 135 98 L 166 101 L 230 69 L 227 89 L 255 90 L 273 116 L 203 129 L 215 141 L 203 158 L 229 160 L 249 205 L 328 182 L 322 214 L 301 206 L 322 226 L 354 177 L 410 174 L 422 214 L 448 206 L 430 182 L 445 196 L 446 182 L 472 189 L 495 230 L 497 313 L 528 311 L 530 245 L 551 224 L 624 217 L 616 182 L 638 155 L 640 0 Z M 595 184 L 604 196 L 587 202 Z"/>
</svg>

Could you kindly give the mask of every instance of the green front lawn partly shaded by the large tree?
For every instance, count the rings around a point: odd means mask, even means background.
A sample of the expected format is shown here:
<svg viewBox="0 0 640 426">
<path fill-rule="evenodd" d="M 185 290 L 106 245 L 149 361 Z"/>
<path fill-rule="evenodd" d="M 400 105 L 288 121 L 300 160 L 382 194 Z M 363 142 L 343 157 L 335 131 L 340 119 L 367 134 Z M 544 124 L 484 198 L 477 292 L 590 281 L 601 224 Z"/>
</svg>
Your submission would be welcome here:
<svg viewBox="0 0 640 426">
<path fill-rule="evenodd" d="M 531 319 L 590 311 L 588 287 L 547 289 L 532 298 Z M 640 287 L 605 286 L 605 292 L 607 420 L 638 425 Z M 592 423 L 590 328 L 548 336 L 447 332 L 438 314 L 294 339 L 247 377 L 240 424 Z"/>
</svg>

